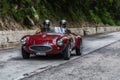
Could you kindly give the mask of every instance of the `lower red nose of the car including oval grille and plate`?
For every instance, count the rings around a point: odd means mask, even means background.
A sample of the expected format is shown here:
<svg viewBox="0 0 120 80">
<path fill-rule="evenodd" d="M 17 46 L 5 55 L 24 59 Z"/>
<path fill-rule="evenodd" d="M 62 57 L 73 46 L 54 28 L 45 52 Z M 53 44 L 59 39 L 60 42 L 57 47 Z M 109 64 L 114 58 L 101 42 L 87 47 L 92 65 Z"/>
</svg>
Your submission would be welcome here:
<svg viewBox="0 0 120 80">
<path fill-rule="evenodd" d="M 32 46 L 24 46 L 25 51 L 30 54 L 35 55 L 52 55 L 52 54 L 60 54 L 64 50 L 64 46 L 57 45 L 32 45 Z"/>
</svg>

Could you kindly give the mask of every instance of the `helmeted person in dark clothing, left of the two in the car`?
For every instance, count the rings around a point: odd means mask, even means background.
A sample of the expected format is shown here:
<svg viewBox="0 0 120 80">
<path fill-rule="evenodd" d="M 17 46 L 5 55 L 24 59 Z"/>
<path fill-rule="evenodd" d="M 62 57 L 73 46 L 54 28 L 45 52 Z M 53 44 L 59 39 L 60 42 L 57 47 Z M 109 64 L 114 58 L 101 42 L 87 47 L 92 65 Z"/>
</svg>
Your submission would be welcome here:
<svg viewBox="0 0 120 80">
<path fill-rule="evenodd" d="M 44 22 L 43 22 L 43 27 L 41 27 L 40 29 L 38 29 L 36 31 L 36 33 L 41 33 L 41 32 L 50 32 L 51 29 L 50 29 L 50 20 L 46 19 Z"/>
</svg>

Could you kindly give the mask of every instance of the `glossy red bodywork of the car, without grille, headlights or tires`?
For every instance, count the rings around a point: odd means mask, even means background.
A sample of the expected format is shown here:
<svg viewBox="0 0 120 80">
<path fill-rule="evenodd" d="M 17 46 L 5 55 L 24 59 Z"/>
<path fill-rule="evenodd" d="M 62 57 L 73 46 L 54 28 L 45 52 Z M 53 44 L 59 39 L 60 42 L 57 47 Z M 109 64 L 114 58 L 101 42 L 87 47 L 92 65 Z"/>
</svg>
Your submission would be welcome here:
<svg viewBox="0 0 120 80">
<path fill-rule="evenodd" d="M 68 43 L 71 44 L 71 50 L 73 50 L 76 47 L 80 48 L 80 44 L 82 42 L 82 38 L 79 35 L 61 34 L 61 33 L 40 33 L 34 35 L 26 35 L 23 38 L 27 39 L 27 43 L 22 45 L 22 47 L 26 52 L 30 54 L 36 54 L 35 51 L 30 49 L 30 46 L 34 46 L 34 45 L 51 46 L 52 49 L 50 51 L 45 52 L 46 55 L 49 55 L 49 54 L 62 53 Z M 57 41 L 60 39 L 63 40 L 62 46 L 57 45 Z"/>
</svg>

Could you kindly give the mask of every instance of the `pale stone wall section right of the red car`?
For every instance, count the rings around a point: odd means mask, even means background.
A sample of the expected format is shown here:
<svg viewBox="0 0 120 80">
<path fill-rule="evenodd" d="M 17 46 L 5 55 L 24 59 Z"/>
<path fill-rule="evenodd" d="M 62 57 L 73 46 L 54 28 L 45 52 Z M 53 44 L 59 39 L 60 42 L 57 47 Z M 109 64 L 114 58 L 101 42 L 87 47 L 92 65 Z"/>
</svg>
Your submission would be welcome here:
<svg viewBox="0 0 120 80">
<path fill-rule="evenodd" d="M 120 27 L 116 27 L 116 26 L 113 26 L 113 27 L 83 27 L 83 28 L 70 28 L 70 30 L 81 36 L 86 36 L 86 35 L 120 31 Z"/>
</svg>

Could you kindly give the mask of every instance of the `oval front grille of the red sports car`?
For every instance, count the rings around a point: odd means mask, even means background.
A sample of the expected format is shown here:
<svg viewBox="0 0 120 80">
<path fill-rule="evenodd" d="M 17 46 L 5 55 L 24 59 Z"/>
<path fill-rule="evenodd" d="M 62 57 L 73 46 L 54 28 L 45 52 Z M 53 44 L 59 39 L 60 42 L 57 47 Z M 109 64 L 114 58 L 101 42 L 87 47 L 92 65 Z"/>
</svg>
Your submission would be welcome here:
<svg viewBox="0 0 120 80">
<path fill-rule="evenodd" d="M 46 52 L 51 50 L 51 47 L 50 46 L 31 46 L 30 49 L 36 52 Z"/>
</svg>

